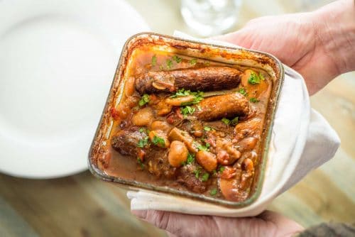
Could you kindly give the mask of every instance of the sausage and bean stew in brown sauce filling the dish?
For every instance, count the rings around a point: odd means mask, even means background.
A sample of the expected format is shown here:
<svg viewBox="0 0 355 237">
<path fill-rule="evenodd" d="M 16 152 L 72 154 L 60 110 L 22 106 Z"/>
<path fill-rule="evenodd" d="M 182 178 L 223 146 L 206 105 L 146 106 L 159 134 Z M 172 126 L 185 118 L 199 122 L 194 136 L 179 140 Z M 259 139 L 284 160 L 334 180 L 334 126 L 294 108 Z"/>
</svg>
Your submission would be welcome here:
<svg viewBox="0 0 355 237">
<path fill-rule="evenodd" d="M 136 50 L 111 109 L 108 175 L 229 201 L 249 197 L 272 82 L 266 72 Z"/>
</svg>

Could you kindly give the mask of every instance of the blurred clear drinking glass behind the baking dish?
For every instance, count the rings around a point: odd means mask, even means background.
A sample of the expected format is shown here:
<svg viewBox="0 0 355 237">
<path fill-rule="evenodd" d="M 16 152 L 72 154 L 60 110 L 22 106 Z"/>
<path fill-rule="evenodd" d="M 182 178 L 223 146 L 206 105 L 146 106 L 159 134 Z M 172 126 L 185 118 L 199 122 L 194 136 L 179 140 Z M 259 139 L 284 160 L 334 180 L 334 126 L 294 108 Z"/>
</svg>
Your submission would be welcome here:
<svg viewBox="0 0 355 237">
<path fill-rule="evenodd" d="M 182 0 L 181 14 L 187 26 L 201 36 L 218 35 L 232 28 L 241 0 Z"/>
</svg>

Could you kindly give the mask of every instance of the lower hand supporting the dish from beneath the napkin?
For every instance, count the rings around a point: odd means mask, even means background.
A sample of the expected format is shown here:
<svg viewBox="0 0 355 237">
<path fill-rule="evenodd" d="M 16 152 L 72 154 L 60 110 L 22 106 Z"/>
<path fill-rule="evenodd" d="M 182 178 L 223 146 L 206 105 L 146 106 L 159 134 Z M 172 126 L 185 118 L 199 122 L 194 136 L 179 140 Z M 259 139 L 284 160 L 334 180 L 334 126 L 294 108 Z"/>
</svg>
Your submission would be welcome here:
<svg viewBox="0 0 355 237">
<path fill-rule="evenodd" d="M 132 211 L 132 214 L 168 231 L 169 236 L 293 236 L 303 230 L 295 221 L 273 211 L 255 217 L 196 216 L 168 211 Z"/>
</svg>

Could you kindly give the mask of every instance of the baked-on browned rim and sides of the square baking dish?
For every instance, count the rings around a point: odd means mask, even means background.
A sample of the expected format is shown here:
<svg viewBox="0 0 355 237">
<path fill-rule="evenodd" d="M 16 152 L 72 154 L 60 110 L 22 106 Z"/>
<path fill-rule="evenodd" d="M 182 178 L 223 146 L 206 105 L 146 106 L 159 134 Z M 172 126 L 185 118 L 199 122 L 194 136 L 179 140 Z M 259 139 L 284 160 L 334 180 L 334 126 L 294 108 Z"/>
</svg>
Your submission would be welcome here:
<svg viewBox="0 0 355 237">
<path fill-rule="evenodd" d="M 228 59 L 228 60 L 253 60 L 254 62 L 258 62 L 261 65 L 271 65 L 273 71 L 275 72 L 275 77 L 273 78 L 273 89 L 271 92 L 270 101 L 268 104 L 268 110 L 266 112 L 266 119 L 263 126 L 262 138 L 263 141 L 261 143 L 261 149 L 258 153 L 259 155 L 259 163 L 258 169 L 253 177 L 252 190 L 249 194 L 249 198 L 244 200 L 243 202 L 229 202 L 221 199 L 214 199 L 210 197 L 199 197 L 199 194 L 188 194 L 188 192 L 172 192 L 172 190 L 161 190 L 159 187 L 155 187 L 154 185 L 141 185 L 139 182 L 126 182 L 125 180 L 121 180 L 120 178 L 109 177 L 108 175 L 102 172 L 102 169 L 99 167 L 99 156 L 102 155 L 100 152 L 100 143 L 103 141 L 103 136 L 107 132 L 107 127 L 109 123 L 109 119 L 111 115 L 109 113 L 109 109 L 112 104 L 116 103 L 116 98 L 118 97 L 118 90 L 121 85 L 122 80 L 124 79 L 124 74 L 126 72 L 126 65 L 129 57 L 133 53 L 133 50 L 141 47 L 142 45 L 168 45 L 177 50 L 177 53 L 182 53 L 186 50 L 195 50 L 196 52 L 203 55 L 204 58 L 208 59 L 212 55 L 218 53 L 220 56 Z M 273 125 L 273 117 L 275 115 L 275 109 L 278 101 L 278 96 L 280 94 L 280 87 L 283 82 L 283 67 L 280 62 L 273 57 L 272 55 L 268 55 L 266 53 L 259 53 L 254 50 L 245 50 L 245 49 L 236 49 L 231 47 L 223 47 L 219 45 L 198 43 L 191 40 L 184 40 L 180 38 L 173 38 L 167 35 L 159 35 L 155 33 L 140 33 L 138 35 L 133 35 L 129 40 L 127 40 L 124 45 L 124 49 L 121 53 L 121 58 L 119 60 L 119 64 L 116 68 L 116 73 L 114 75 L 114 80 L 111 85 L 111 89 L 109 92 L 109 97 L 107 99 L 107 103 L 104 106 L 104 111 L 102 113 L 102 118 L 99 122 L 99 126 L 94 136 L 94 140 L 92 142 L 92 146 L 89 150 L 89 169 L 91 172 L 101 178 L 102 180 L 119 182 L 121 184 L 129 184 L 134 187 L 143 188 L 143 189 L 152 189 L 158 190 L 160 192 L 170 192 L 174 194 L 181 195 L 183 197 L 189 197 L 192 199 L 203 199 L 207 202 L 214 202 L 215 204 L 221 204 L 229 207 L 241 207 L 251 204 L 258 197 L 258 194 L 261 192 L 262 183 L 263 183 L 263 175 L 266 168 L 266 157 L 268 152 L 268 144 L 271 137 L 271 128 Z M 121 85 L 122 86 L 122 85 Z M 102 164 L 108 165 L 108 164 Z M 122 185 L 120 185 L 122 186 Z M 251 199 L 251 197 L 255 197 Z"/>
</svg>

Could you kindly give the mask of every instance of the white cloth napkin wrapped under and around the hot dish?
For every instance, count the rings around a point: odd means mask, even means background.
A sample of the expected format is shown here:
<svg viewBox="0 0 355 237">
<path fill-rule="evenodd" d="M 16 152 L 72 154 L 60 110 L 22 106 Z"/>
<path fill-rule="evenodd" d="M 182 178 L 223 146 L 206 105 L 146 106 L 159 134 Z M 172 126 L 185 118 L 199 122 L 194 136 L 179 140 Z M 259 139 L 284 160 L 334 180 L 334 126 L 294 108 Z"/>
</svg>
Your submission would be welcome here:
<svg viewBox="0 0 355 237">
<path fill-rule="evenodd" d="M 239 48 L 216 40 L 192 38 L 178 31 L 175 31 L 174 35 Z M 170 194 L 129 191 L 127 197 L 131 199 L 131 209 L 215 216 L 255 216 L 308 172 L 330 160 L 339 148 L 339 136 L 322 115 L 310 108 L 310 99 L 302 76 L 290 67 L 283 66 L 285 81 L 275 114 L 266 177 L 261 194 L 253 204 L 240 209 L 230 209 Z"/>
</svg>

